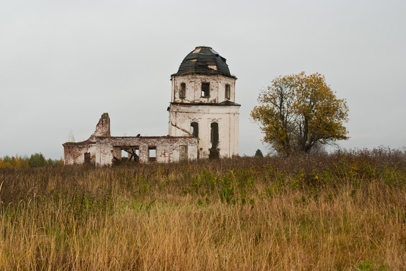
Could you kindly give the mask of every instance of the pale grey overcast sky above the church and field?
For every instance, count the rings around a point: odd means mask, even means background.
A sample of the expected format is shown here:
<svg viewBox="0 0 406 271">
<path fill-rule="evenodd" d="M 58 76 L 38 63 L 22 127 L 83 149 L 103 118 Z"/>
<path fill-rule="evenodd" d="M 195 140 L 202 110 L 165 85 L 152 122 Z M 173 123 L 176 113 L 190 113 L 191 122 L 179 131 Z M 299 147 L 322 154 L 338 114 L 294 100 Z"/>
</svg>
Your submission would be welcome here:
<svg viewBox="0 0 406 271">
<path fill-rule="evenodd" d="M 2 1 L 0 157 L 63 156 L 108 112 L 113 136 L 168 134 L 170 75 L 196 46 L 238 80 L 240 154 L 267 152 L 249 112 L 279 75 L 346 98 L 344 148 L 406 145 L 406 1 Z"/>
</svg>

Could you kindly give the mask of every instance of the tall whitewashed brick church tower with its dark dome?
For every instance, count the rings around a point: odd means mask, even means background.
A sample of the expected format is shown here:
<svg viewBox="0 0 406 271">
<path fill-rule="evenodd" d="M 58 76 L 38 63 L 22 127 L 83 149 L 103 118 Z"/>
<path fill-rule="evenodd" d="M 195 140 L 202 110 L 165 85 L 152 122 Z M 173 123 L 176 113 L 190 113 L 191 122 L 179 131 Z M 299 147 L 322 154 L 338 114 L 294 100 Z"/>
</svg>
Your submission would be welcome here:
<svg viewBox="0 0 406 271">
<path fill-rule="evenodd" d="M 239 109 L 226 59 L 199 46 L 171 75 L 169 135 L 198 138 L 198 158 L 238 156 Z"/>
</svg>

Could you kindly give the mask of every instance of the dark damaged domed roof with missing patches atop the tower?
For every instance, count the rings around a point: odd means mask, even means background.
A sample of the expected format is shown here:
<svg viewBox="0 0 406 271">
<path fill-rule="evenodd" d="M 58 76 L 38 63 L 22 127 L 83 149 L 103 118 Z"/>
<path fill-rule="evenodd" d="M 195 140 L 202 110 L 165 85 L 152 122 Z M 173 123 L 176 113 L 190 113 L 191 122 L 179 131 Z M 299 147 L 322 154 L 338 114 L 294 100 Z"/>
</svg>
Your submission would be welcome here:
<svg viewBox="0 0 406 271">
<path fill-rule="evenodd" d="M 198 46 L 183 59 L 179 70 L 173 75 L 189 73 L 222 74 L 235 77 L 230 74 L 226 59 L 214 51 L 211 47 Z"/>
</svg>

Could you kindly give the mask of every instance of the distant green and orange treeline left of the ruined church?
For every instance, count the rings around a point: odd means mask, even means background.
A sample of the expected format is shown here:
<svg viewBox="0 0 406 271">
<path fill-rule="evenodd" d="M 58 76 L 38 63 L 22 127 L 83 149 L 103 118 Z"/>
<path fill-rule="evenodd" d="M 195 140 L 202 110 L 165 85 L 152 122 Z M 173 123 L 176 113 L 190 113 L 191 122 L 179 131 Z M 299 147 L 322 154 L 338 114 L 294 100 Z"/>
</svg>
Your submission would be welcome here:
<svg viewBox="0 0 406 271">
<path fill-rule="evenodd" d="M 44 154 L 34 153 L 28 156 L 5 156 L 0 158 L 0 168 L 36 168 L 44 166 L 63 166 L 63 159 L 52 160 L 51 158 L 46 159 Z"/>
</svg>

